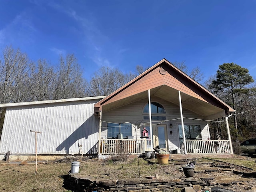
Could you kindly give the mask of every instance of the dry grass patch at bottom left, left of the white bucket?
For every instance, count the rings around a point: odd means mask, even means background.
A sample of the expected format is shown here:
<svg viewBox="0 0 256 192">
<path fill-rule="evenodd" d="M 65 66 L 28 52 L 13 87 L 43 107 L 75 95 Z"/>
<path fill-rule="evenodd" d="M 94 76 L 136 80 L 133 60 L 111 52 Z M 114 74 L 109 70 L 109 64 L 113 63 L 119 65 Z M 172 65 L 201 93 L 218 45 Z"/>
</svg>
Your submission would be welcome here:
<svg viewBox="0 0 256 192">
<path fill-rule="evenodd" d="M 63 179 L 68 174 L 70 163 L 39 164 L 36 171 L 35 164 L 0 165 L 0 191 L 8 192 L 70 192 L 62 187 Z"/>
</svg>

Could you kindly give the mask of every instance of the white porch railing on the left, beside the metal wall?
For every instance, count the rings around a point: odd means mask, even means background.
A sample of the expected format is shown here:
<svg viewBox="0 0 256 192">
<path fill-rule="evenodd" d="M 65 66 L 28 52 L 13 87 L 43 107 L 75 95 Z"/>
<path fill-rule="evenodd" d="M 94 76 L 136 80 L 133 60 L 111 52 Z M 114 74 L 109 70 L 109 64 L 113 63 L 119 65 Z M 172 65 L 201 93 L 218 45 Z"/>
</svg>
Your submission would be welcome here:
<svg viewBox="0 0 256 192">
<path fill-rule="evenodd" d="M 150 151 L 150 140 L 104 139 L 100 141 L 100 154 L 143 154 Z"/>
</svg>

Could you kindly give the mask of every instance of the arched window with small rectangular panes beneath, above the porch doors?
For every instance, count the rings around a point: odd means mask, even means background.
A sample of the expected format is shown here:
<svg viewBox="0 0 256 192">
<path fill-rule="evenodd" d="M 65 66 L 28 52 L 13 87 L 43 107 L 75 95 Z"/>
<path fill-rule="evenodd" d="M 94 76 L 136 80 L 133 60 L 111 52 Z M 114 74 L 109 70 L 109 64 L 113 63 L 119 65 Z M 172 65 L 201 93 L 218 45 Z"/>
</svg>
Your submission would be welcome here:
<svg viewBox="0 0 256 192">
<path fill-rule="evenodd" d="M 164 107 L 161 104 L 152 102 L 150 107 L 151 107 L 151 114 L 153 114 L 151 116 L 152 120 L 166 120 L 166 112 L 164 110 Z M 149 105 L 148 104 L 146 104 L 146 106 L 144 107 L 143 114 L 149 114 Z M 143 119 L 149 120 L 149 116 L 144 115 Z"/>
</svg>

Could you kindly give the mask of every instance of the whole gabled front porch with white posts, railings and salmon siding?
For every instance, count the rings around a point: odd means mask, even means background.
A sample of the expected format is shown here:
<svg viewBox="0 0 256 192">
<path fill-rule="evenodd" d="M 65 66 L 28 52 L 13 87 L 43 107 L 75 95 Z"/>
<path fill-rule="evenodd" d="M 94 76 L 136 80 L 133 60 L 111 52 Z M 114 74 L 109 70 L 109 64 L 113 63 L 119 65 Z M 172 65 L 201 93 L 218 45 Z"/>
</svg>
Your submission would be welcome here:
<svg viewBox="0 0 256 192">
<path fill-rule="evenodd" d="M 144 154 L 158 145 L 170 153 L 233 154 L 228 124 L 232 112 L 234 109 L 163 59 L 94 105 L 94 114 L 99 116 L 98 154 Z M 218 118 L 224 118 L 226 134 L 216 140 L 210 136 L 208 123 Z M 137 127 L 138 121 L 146 122 L 149 138 L 140 138 L 134 131 L 134 139 L 108 134 L 108 123 Z M 161 136 L 164 142 L 160 144 Z"/>
</svg>

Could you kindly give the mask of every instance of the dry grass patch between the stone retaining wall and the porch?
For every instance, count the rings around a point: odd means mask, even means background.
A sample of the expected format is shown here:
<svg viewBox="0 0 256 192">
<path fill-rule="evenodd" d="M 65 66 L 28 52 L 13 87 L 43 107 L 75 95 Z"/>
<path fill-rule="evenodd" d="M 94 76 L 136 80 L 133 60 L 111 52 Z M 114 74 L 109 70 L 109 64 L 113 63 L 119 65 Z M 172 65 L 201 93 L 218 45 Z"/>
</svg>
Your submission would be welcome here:
<svg viewBox="0 0 256 192">
<path fill-rule="evenodd" d="M 95 178 L 145 178 L 158 174 L 161 178 L 179 178 L 183 176 L 177 166 L 148 164 L 142 158 L 130 158 L 125 162 L 105 160 L 86 161 L 80 164 L 80 174 L 90 175 Z"/>
</svg>

